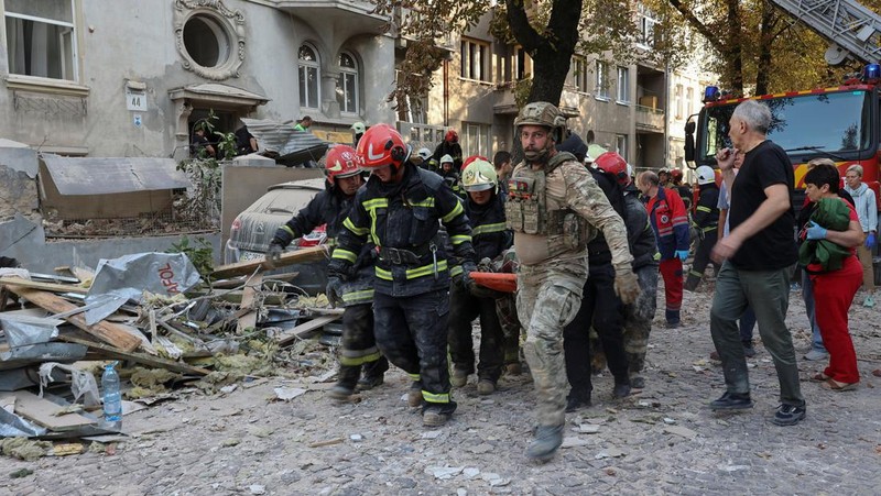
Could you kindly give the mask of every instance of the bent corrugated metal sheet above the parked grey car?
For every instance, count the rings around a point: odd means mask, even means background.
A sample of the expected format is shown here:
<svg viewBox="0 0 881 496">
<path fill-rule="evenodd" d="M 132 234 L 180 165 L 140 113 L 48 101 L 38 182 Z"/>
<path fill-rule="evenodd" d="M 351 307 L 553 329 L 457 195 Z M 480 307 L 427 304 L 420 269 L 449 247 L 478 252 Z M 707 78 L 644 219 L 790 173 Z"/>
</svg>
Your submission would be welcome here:
<svg viewBox="0 0 881 496">
<path fill-rule="evenodd" d="M 241 121 L 257 139 L 260 150 L 278 153 L 276 161 L 280 163 L 318 162 L 329 146 L 329 143 L 308 131 L 295 131 L 293 124 L 260 119 L 242 119 Z"/>
</svg>

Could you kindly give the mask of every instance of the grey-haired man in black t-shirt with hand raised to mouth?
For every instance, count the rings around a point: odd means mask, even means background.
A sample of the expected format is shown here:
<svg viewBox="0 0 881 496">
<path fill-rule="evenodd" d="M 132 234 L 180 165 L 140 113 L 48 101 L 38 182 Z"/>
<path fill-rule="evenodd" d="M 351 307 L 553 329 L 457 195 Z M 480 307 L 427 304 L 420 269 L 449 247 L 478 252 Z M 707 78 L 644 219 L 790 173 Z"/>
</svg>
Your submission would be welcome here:
<svg viewBox="0 0 881 496">
<path fill-rule="evenodd" d="M 710 403 L 714 410 L 751 408 L 749 375 L 737 320 L 747 306 L 755 311 L 759 334 L 774 360 L 781 405 L 771 420 L 794 426 L 805 417 L 792 334 L 786 328 L 790 273 L 795 265 L 794 176 L 786 153 L 765 139 L 771 111 L 755 100 L 735 109 L 729 122 L 736 150 L 744 153 L 735 176 L 735 150 L 716 159 L 731 191 L 730 234 L 713 250 L 721 263 L 710 310 L 710 332 L 722 362 L 726 393 Z"/>
</svg>

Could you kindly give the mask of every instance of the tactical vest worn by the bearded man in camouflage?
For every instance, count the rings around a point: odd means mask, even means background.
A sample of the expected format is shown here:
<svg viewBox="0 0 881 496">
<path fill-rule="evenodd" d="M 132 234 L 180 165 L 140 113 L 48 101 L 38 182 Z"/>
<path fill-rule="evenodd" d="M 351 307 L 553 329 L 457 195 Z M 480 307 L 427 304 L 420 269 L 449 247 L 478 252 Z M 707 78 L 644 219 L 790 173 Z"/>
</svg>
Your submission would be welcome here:
<svg viewBox="0 0 881 496">
<path fill-rule="evenodd" d="M 546 178 L 569 161 L 576 161 L 575 156 L 561 152 L 543 169 L 521 167 L 508 179 L 504 214 L 509 229 L 541 236 L 562 235 L 566 250 L 584 250 L 587 244 L 587 221 L 570 209 L 547 208 Z"/>
</svg>

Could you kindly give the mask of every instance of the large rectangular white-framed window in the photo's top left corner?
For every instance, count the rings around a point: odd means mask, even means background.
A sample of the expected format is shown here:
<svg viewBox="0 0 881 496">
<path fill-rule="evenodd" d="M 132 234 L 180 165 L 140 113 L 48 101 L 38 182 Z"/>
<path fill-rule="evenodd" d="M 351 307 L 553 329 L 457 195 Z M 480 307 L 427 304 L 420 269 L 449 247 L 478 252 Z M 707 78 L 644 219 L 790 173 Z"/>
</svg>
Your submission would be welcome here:
<svg viewBox="0 0 881 496">
<path fill-rule="evenodd" d="M 74 0 L 4 0 L 10 74 L 75 81 Z"/>
</svg>

